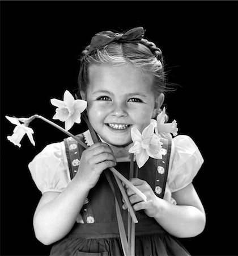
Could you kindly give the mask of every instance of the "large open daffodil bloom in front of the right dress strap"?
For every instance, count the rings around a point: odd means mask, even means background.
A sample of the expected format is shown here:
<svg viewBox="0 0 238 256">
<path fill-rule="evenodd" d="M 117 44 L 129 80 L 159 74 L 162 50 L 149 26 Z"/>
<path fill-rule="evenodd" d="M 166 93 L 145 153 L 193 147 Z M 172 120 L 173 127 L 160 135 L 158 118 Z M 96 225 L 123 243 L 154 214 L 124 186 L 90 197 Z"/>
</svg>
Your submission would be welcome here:
<svg viewBox="0 0 238 256">
<path fill-rule="evenodd" d="M 135 127 L 131 128 L 131 139 L 134 145 L 129 149 L 130 153 L 135 155 L 137 165 L 141 168 L 149 157 L 162 159 L 160 136 L 154 133 L 155 122 L 151 122 L 143 131 L 142 134 Z"/>
</svg>

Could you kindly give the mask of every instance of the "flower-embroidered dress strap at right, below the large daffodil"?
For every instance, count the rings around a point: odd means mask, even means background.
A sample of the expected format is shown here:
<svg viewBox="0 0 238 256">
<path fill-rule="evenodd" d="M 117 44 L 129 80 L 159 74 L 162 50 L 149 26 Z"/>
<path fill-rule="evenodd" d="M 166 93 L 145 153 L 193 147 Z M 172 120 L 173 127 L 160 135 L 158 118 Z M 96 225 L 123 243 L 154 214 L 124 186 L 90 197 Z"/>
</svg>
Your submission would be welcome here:
<svg viewBox="0 0 238 256">
<path fill-rule="evenodd" d="M 163 198 L 165 186 L 168 177 L 169 159 L 171 154 L 171 140 L 161 139 L 162 141 L 162 159 L 157 160 L 157 171 L 155 175 L 155 194 Z"/>
</svg>

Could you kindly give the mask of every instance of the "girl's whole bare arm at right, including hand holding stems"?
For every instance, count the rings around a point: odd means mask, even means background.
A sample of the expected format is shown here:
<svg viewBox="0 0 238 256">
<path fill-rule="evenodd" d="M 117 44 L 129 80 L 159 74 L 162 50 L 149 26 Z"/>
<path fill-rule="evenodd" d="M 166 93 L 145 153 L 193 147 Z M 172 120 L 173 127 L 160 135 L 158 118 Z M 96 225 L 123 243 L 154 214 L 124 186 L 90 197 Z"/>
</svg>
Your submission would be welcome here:
<svg viewBox="0 0 238 256">
<path fill-rule="evenodd" d="M 134 210 L 145 210 L 149 217 L 154 217 L 172 236 L 194 237 L 205 228 L 205 211 L 192 183 L 172 194 L 177 205 L 157 197 L 144 180 L 133 179 L 131 183 L 145 193 L 148 199 L 147 203 L 142 202 L 137 195 L 127 189 Z M 125 205 L 123 208 L 126 208 Z"/>
</svg>

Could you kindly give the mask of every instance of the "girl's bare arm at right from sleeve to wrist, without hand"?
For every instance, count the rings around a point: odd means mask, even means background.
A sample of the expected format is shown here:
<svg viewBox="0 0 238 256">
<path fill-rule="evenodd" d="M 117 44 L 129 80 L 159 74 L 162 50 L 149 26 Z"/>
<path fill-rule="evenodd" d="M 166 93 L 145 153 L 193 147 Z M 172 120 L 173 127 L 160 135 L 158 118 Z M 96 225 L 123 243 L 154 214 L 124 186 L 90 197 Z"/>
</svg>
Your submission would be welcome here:
<svg viewBox="0 0 238 256">
<path fill-rule="evenodd" d="M 163 199 L 158 200 L 155 220 L 176 237 L 194 237 L 202 233 L 206 215 L 193 184 L 190 183 L 180 191 L 172 193 L 172 197 L 177 205 Z"/>
</svg>

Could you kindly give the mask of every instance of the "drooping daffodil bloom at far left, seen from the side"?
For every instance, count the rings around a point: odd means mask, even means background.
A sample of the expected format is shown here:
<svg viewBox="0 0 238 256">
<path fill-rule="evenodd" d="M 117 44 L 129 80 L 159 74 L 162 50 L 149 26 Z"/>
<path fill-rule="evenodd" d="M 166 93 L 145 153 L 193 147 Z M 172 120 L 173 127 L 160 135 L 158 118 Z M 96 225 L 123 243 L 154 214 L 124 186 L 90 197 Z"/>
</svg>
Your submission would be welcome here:
<svg viewBox="0 0 238 256">
<path fill-rule="evenodd" d="M 19 122 L 18 118 L 15 117 L 8 117 L 5 116 L 8 121 L 16 125 L 15 129 L 13 130 L 13 134 L 11 136 L 7 136 L 8 141 L 14 143 L 16 146 L 21 147 L 20 142 L 25 134 L 27 134 L 30 142 L 35 146 L 35 141 L 33 140 L 32 134 L 34 131 L 27 127 L 26 125 Z"/>
</svg>

